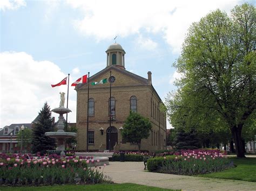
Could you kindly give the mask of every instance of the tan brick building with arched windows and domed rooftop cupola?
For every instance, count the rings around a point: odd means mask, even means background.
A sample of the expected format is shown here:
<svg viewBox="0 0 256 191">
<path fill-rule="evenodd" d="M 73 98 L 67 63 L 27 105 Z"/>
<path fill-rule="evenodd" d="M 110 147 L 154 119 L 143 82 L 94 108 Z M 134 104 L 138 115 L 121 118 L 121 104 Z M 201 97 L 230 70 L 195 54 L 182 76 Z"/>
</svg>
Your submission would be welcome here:
<svg viewBox="0 0 256 191">
<path fill-rule="evenodd" d="M 152 123 L 150 136 L 142 140 L 141 150 L 165 149 L 166 116 L 159 110 L 162 102 L 152 85 L 151 72 L 147 72 L 145 79 L 125 70 L 125 51 L 119 44 L 107 48 L 106 54 L 106 68 L 90 77 L 89 150 L 113 150 L 113 147 L 115 150 L 138 150 L 136 144 L 126 143 L 121 135 L 130 110 L 149 118 Z M 111 85 L 111 99 L 110 73 L 116 79 Z M 102 79 L 107 79 L 107 83 L 91 85 Z M 86 150 L 87 86 L 87 83 L 76 86 L 78 150 Z"/>
</svg>

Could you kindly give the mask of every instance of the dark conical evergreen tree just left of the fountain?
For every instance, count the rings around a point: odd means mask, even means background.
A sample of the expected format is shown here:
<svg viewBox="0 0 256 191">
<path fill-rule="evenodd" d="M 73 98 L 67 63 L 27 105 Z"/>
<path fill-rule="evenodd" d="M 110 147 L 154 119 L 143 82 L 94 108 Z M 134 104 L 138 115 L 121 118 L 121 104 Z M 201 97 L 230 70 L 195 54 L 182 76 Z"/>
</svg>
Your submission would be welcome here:
<svg viewBox="0 0 256 191">
<path fill-rule="evenodd" d="M 39 112 L 38 123 L 33 128 L 31 148 L 33 153 L 41 152 L 41 154 L 44 154 L 47 150 L 55 149 L 55 139 L 46 137 L 44 134 L 51 131 L 53 131 L 51 111 L 49 105 L 45 103 Z"/>
</svg>

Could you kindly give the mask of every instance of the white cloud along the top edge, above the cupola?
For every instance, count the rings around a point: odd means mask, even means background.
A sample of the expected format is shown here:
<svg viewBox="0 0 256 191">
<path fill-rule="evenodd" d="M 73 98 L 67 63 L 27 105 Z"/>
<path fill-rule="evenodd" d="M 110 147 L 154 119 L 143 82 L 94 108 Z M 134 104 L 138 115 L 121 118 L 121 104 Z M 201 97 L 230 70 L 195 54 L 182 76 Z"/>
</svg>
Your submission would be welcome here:
<svg viewBox="0 0 256 191">
<path fill-rule="evenodd" d="M 79 9 L 82 19 L 74 21 L 75 28 L 85 36 L 97 40 L 126 37 L 130 34 L 160 33 L 179 53 L 185 33 L 192 22 L 198 22 L 208 12 L 230 11 L 238 0 L 216 1 L 75 1 L 66 0 L 73 9 Z"/>
</svg>

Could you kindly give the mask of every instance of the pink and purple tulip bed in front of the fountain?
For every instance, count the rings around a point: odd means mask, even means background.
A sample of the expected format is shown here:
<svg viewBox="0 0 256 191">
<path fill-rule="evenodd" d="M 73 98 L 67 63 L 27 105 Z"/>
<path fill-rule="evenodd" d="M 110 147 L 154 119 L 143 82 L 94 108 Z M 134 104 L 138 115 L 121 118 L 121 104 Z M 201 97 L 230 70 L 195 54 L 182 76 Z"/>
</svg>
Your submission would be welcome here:
<svg viewBox="0 0 256 191">
<path fill-rule="evenodd" d="M 89 160 L 91 159 L 91 160 Z M 87 167 L 89 163 L 94 167 Z M 0 185 L 39 186 L 65 183 L 99 183 L 104 181 L 103 168 L 93 157 L 33 158 L 31 155 L 8 155 L 0 160 Z"/>
</svg>

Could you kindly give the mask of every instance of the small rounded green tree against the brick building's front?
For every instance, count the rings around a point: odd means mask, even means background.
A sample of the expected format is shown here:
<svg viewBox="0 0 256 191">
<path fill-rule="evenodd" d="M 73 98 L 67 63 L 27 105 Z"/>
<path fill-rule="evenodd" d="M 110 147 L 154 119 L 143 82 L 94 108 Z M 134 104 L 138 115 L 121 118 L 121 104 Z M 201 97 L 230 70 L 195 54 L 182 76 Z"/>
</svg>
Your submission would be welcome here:
<svg viewBox="0 0 256 191">
<path fill-rule="evenodd" d="M 129 143 L 136 143 L 140 151 L 142 139 L 150 136 L 152 124 L 149 119 L 130 111 L 130 115 L 124 122 L 122 137 Z"/>
</svg>

